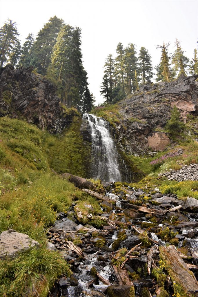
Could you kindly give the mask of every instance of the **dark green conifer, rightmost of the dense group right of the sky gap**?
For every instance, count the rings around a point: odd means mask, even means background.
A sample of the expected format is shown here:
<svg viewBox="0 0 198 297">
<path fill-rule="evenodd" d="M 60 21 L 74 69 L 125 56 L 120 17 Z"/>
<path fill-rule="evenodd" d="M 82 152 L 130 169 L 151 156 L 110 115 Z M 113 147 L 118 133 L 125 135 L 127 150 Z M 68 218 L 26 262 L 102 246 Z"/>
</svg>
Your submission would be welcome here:
<svg viewBox="0 0 198 297">
<path fill-rule="evenodd" d="M 151 83 L 153 77 L 153 67 L 151 64 L 151 56 L 148 50 L 143 46 L 140 48 L 139 60 L 139 74 L 141 76 L 141 83 Z"/>
</svg>

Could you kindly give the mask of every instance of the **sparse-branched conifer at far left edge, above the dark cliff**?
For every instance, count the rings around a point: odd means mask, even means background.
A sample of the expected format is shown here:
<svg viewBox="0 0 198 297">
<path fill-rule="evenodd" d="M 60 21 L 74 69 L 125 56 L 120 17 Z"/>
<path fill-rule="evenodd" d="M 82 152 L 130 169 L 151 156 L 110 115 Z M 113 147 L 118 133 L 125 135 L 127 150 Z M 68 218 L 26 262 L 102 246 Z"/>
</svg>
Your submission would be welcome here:
<svg viewBox="0 0 198 297">
<path fill-rule="evenodd" d="M 19 54 L 18 36 L 17 25 L 10 19 L 0 28 L 0 67 L 9 59 L 17 62 Z"/>
</svg>

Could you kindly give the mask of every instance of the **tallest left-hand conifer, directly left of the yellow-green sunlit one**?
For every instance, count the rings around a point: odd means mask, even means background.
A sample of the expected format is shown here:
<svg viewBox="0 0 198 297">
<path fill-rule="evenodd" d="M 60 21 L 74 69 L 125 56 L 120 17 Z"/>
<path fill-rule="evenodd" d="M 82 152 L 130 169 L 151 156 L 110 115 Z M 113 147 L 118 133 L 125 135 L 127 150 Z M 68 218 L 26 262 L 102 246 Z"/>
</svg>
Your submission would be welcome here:
<svg viewBox="0 0 198 297">
<path fill-rule="evenodd" d="M 31 48 L 31 65 L 37 68 L 37 72 L 46 74 L 50 64 L 50 58 L 54 45 L 56 44 L 58 32 L 64 21 L 54 16 L 39 31 L 38 36 Z"/>
</svg>

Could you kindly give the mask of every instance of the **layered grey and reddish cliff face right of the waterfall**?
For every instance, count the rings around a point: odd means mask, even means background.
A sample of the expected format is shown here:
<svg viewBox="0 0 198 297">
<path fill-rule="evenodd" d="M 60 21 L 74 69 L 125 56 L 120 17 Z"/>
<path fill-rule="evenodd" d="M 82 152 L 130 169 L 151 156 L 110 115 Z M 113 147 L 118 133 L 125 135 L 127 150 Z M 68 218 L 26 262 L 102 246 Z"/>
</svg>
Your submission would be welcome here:
<svg viewBox="0 0 198 297">
<path fill-rule="evenodd" d="M 198 114 L 198 76 L 180 76 L 171 83 L 144 85 L 118 103 L 121 124 L 113 129 L 117 145 L 129 154 L 142 154 L 151 147 L 163 150 L 169 144 L 163 132 L 174 105 L 183 121 L 188 113 Z"/>
</svg>

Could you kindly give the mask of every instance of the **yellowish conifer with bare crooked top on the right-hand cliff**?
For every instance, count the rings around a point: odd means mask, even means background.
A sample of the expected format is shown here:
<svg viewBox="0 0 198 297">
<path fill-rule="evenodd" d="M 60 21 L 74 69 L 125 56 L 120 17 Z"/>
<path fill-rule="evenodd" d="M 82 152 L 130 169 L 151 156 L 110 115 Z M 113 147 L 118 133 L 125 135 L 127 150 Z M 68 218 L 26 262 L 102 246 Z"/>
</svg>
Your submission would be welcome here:
<svg viewBox="0 0 198 297">
<path fill-rule="evenodd" d="M 168 47 L 170 43 L 163 45 L 157 45 L 157 48 L 161 48 L 161 60 L 160 64 L 156 67 L 159 70 L 157 73 L 157 81 L 162 80 L 165 82 L 170 82 L 173 75 L 170 68 L 170 56 L 168 54 Z"/>
</svg>

